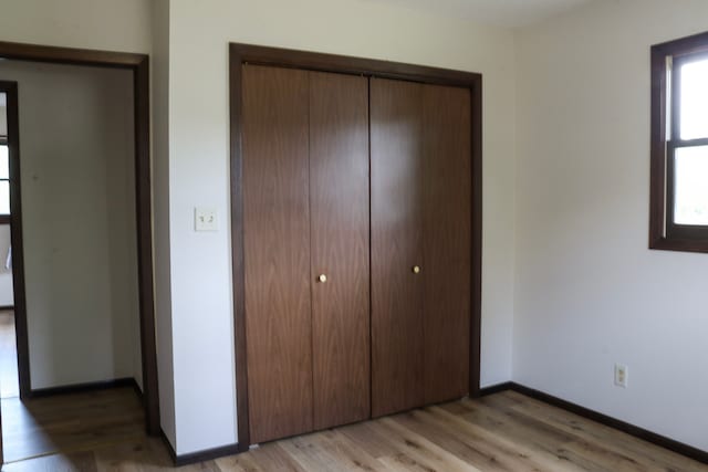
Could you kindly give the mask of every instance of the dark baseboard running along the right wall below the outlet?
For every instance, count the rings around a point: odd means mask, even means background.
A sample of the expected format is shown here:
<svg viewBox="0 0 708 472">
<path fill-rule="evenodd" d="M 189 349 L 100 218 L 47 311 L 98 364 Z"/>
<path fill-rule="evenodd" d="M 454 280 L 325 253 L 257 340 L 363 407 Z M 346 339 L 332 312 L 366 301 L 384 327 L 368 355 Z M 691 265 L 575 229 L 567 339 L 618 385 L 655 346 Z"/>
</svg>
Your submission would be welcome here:
<svg viewBox="0 0 708 472">
<path fill-rule="evenodd" d="M 537 390 L 533 388 L 525 387 L 523 385 L 517 382 L 504 382 L 496 386 L 487 387 L 482 389 L 482 391 L 488 391 L 489 394 L 496 394 L 503 390 L 513 390 L 519 394 L 525 395 L 527 397 L 534 398 L 539 401 L 543 401 L 544 403 L 552 405 L 554 407 L 561 408 L 563 410 L 575 413 L 580 417 L 587 418 L 589 420 L 598 422 L 601 424 L 607 426 L 610 428 L 614 428 L 622 432 L 626 432 L 629 436 L 642 439 L 644 441 L 650 442 L 655 445 L 662 447 L 664 449 L 668 449 L 669 451 L 676 452 L 678 454 L 685 455 L 687 458 L 694 459 L 698 462 L 702 462 L 708 464 L 708 452 L 702 451 L 700 449 L 694 448 L 693 445 L 685 444 L 683 442 L 678 442 L 665 436 L 652 432 L 644 428 L 639 428 L 632 423 L 618 420 L 616 418 L 610 417 L 607 415 L 603 415 L 595 410 L 591 410 L 590 408 L 581 407 L 577 403 L 573 403 L 571 401 L 563 400 L 562 398 L 554 397 L 552 395 L 545 394 L 541 390 Z"/>
</svg>

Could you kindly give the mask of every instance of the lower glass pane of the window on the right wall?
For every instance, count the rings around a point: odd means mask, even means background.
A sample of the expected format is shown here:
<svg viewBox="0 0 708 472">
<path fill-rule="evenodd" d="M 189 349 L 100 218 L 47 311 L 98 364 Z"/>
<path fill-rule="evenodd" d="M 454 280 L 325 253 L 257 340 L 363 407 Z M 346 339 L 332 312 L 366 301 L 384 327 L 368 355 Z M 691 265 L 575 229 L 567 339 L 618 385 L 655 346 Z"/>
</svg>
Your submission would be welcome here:
<svg viewBox="0 0 708 472">
<path fill-rule="evenodd" d="M 674 222 L 708 225 L 708 146 L 676 149 Z"/>
</svg>

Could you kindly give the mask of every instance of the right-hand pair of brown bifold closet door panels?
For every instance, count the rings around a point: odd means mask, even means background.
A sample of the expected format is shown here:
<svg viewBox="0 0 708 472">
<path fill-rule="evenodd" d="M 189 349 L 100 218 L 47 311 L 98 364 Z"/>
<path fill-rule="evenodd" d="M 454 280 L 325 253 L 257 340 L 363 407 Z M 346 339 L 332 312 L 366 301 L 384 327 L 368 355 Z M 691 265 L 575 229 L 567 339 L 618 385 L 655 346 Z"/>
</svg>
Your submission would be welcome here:
<svg viewBox="0 0 708 472">
<path fill-rule="evenodd" d="M 371 80 L 372 415 L 469 390 L 470 97 Z"/>
</svg>

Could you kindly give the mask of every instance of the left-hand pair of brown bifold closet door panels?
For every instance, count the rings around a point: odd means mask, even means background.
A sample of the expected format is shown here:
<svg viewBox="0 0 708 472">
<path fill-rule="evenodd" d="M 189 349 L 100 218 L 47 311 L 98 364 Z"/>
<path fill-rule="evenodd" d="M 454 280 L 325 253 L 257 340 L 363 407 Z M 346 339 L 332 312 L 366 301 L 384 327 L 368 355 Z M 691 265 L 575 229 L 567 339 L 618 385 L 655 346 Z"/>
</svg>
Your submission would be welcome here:
<svg viewBox="0 0 708 472">
<path fill-rule="evenodd" d="M 251 440 L 369 415 L 368 83 L 246 65 Z"/>
</svg>

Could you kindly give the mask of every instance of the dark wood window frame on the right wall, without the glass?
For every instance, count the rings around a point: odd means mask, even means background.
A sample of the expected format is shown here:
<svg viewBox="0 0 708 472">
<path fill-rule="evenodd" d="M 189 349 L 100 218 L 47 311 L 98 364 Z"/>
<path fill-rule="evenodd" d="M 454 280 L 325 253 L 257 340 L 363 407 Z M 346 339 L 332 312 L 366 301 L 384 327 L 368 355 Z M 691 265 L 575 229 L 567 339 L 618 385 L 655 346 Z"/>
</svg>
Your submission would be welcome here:
<svg viewBox="0 0 708 472">
<path fill-rule="evenodd" d="M 677 71 L 679 65 L 706 57 L 708 33 L 652 46 L 650 249 L 708 252 L 708 225 L 674 222 L 676 149 L 708 145 L 708 137 L 680 139 Z"/>
</svg>

